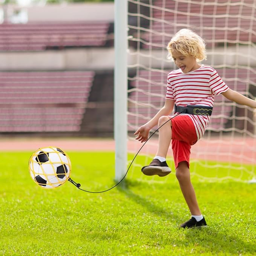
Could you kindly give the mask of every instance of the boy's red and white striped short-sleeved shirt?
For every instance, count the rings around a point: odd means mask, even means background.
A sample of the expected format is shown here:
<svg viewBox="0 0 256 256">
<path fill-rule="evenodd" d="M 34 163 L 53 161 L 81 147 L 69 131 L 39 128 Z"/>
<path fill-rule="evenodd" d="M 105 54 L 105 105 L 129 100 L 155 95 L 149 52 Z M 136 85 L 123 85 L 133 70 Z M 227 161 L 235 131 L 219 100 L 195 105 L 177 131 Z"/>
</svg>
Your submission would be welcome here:
<svg viewBox="0 0 256 256">
<path fill-rule="evenodd" d="M 199 69 L 183 73 L 174 70 L 167 77 L 166 98 L 174 100 L 177 106 L 199 105 L 213 107 L 214 96 L 228 90 L 217 71 L 210 66 L 202 65 Z M 189 114 L 181 114 L 189 115 Z M 205 132 L 210 116 L 189 115 L 195 125 L 197 138 Z"/>
</svg>

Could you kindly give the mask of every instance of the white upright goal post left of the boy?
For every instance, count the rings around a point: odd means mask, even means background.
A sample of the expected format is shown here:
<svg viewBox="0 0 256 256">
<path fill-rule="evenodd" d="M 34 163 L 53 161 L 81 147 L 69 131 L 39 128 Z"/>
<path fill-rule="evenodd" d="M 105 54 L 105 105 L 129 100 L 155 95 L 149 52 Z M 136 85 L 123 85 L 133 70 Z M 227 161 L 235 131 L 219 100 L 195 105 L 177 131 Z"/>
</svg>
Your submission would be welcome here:
<svg viewBox="0 0 256 256">
<path fill-rule="evenodd" d="M 127 1 L 115 0 L 114 139 L 115 180 L 127 167 Z"/>
</svg>

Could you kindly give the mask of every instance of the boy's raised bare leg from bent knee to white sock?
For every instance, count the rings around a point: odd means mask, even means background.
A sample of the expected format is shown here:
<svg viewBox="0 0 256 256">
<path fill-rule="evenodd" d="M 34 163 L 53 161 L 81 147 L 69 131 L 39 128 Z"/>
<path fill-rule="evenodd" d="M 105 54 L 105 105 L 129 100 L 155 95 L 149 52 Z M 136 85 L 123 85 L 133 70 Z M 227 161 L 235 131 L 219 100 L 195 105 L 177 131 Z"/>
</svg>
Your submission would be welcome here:
<svg viewBox="0 0 256 256">
<path fill-rule="evenodd" d="M 166 121 L 168 121 L 166 123 Z M 166 124 L 164 124 L 166 123 Z M 162 116 L 158 120 L 158 127 L 160 127 L 162 124 L 164 124 L 159 129 L 159 136 L 158 136 L 158 149 L 156 152 L 156 156 L 161 156 L 166 158 L 170 142 L 172 139 L 172 121 L 167 116 Z"/>
</svg>

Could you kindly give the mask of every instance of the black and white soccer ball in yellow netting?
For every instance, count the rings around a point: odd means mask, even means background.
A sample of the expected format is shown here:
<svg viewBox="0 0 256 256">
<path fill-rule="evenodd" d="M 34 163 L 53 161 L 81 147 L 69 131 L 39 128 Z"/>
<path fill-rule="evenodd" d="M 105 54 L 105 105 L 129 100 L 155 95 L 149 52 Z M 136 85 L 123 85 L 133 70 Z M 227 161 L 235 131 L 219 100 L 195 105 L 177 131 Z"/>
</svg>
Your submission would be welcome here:
<svg viewBox="0 0 256 256">
<path fill-rule="evenodd" d="M 52 189 L 64 184 L 71 173 L 69 156 L 58 147 L 44 147 L 29 159 L 31 178 L 43 188 Z"/>
</svg>

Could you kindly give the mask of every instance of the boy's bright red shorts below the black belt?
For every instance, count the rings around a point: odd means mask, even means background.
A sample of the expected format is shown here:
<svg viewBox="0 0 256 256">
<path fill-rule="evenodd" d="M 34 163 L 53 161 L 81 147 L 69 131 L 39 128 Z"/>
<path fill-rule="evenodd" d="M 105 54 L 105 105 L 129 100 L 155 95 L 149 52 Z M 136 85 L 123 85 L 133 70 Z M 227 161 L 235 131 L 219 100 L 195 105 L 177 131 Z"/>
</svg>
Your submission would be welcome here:
<svg viewBox="0 0 256 256">
<path fill-rule="evenodd" d="M 172 152 L 175 169 L 182 161 L 189 167 L 191 145 L 197 141 L 196 129 L 187 115 L 178 115 L 172 119 Z"/>
</svg>

